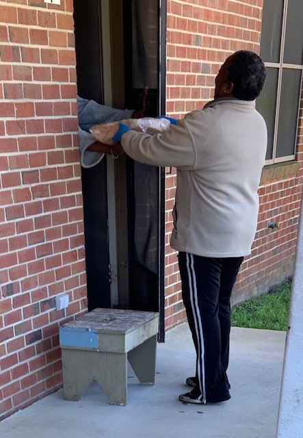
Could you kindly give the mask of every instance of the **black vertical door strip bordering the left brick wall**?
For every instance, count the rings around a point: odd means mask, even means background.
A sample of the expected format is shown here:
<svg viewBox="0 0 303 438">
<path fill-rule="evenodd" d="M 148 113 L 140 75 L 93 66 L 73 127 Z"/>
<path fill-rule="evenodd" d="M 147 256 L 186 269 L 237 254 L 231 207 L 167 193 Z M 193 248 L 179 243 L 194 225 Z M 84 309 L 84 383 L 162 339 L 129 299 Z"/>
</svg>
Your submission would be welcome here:
<svg viewBox="0 0 303 438">
<path fill-rule="evenodd" d="M 74 0 L 78 94 L 103 103 L 101 2 Z M 107 229 L 106 159 L 81 168 L 88 309 L 111 307 Z"/>
</svg>

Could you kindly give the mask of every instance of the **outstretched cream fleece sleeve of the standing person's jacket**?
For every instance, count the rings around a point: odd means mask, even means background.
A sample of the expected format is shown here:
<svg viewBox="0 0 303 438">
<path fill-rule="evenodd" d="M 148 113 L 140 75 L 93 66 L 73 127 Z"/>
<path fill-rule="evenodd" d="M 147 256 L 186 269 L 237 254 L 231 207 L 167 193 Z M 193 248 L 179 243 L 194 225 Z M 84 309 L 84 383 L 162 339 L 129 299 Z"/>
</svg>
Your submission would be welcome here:
<svg viewBox="0 0 303 438">
<path fill-rule="evenodd" d="M 144 164 L 192 170 L 196 163 L 194 140 L 184 120 L 178 120 L 168 131 L 153 136 L 127 131 L 121 144 L 127 155 Z"/>
</svg>

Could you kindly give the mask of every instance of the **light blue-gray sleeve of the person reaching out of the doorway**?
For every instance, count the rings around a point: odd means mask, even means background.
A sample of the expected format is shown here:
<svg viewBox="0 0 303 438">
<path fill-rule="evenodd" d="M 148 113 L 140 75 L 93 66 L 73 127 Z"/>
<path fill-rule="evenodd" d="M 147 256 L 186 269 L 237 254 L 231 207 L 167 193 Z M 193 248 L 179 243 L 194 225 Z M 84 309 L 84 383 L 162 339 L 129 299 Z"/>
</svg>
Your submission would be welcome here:
<svg viewBox="0 0 303 438">
<path fill-rule="evenodd" d="M 131 118 L 134 110 L 118 110 L 107 107 L 95 101 L 83 99 L 77 96 L 78 120 L 79 120 L 79 149 L 80 162 L 84 168 L 96 166 L 104 157 L 104 153 L 88 151 L 88 146 L 96 142 L 96 138 L 89 132 L 95 125 L 119 122 L 125 118 Z"/>
</svg>

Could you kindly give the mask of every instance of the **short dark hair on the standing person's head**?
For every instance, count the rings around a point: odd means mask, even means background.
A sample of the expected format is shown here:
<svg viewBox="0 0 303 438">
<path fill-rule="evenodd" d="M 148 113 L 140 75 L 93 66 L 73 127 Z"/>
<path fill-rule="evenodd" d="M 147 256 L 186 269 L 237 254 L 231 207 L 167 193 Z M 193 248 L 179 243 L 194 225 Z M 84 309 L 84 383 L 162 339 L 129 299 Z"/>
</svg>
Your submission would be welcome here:
<svg viewBox="0 0 303 438">
<path fill-rule="evenodd" d="M 248 50 L 239 50 L 230 56 L 227 80 L 233 82 L 233 96 L 242 101 L 254 101 L 259 96 L 266 78 L 261 57 Z"/>
</svg>

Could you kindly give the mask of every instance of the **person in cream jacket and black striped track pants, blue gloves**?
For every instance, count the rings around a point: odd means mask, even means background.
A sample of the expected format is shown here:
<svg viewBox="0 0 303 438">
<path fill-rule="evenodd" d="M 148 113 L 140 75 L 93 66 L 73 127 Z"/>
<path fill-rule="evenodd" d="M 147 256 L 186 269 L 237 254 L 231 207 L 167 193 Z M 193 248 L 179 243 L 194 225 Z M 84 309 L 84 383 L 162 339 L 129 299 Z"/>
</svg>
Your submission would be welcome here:
<svg viewBox="0 0 303 438">
<path fill-rule="evenodd" d="M 230 295 L 250 254 L 259 209 L 267 129 L 256 111 L 266 70 L 250 51 L 237 51 L 215 78 L 214 100 L 154 136 L 120 125 L 113 151 L 138 162 L 177 169 L 171 246 L 179 252 L 183 302 L 196 348 L 196 376 L 186 379 L 188 403 L 230 398 Z"/>
</svg>

